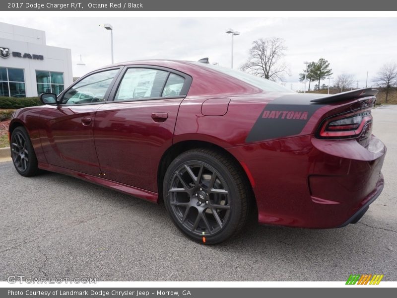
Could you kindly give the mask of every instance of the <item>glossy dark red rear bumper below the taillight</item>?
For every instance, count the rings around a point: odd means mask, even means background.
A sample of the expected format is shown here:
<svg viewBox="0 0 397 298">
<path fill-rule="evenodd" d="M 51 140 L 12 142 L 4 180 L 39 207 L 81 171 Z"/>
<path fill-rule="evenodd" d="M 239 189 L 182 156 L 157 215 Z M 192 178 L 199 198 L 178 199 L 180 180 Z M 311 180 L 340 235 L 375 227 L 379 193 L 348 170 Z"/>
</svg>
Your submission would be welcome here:
<svg viewBox="0 0 397 298">
<path fill-rule="evenodd" d="M 252 177 L 259 222 L 332 228 L 358 221 L 384 187 L 386 147 L 313 136 L 229 149 Z"/>
</svg>

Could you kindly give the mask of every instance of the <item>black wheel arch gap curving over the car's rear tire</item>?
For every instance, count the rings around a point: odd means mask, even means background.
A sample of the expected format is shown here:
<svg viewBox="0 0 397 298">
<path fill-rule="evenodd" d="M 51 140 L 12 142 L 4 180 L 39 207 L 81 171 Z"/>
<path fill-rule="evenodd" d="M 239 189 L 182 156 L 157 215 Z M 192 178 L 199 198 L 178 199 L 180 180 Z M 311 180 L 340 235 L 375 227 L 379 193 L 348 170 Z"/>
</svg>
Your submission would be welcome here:
<svg viewBox="0 0 397 298">
<path fill-rule="evenodd" d="M 250 190 L 252 193 L 253 203 L 256 205 L 256 198 L 253 191 L 253 185 L 247 175 L 246 169 L 239 162 L 239 160 L 229 151 L 216 145 L 214 143 L 198 141 L 198 140 L 189 140 L 189 141 L 181 141 L 173 144 L 170 148 L 168 148 L 164 154 L 162 155 L 158 168 L 157 168 L 157 188 L 158 188 L 158 201 L 161 202 L 163 200 L 163 180 L 165 176 L 165 172 L 170 165 L 170 163 L 181 153 L 197 148 L 205 148 L 211 149 L 214 151 L 222 152 L 223 154 L 229 156 L 233 161 L 235 161 L 236 166 L 238 166 L 241 172 L 244 174 L 244 179 L 246 179 L 247 184 L 250 186 Z"/>
</svg>

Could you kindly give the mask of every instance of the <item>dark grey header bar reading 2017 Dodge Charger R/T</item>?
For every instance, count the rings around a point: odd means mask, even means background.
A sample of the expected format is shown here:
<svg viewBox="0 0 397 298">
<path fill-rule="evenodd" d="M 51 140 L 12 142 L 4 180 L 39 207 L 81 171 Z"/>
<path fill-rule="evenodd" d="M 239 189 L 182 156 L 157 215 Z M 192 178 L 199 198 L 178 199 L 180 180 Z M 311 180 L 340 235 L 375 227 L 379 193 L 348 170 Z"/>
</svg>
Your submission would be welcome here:
<svg viewBox="0 0 397 298">
<path fill-rule="evenodd" d="M 3 11 L 393 11 L 391 0 L 25 0 L 0 1 Z M 319 15 L 321 16 L 321 15 Z"/>
</svg>

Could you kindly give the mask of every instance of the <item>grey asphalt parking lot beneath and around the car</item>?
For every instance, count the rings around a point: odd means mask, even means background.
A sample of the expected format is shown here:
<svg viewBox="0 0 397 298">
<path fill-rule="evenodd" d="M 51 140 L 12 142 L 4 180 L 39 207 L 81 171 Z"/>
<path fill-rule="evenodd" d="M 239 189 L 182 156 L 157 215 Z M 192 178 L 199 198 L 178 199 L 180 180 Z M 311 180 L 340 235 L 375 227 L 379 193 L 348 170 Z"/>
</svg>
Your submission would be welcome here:
<svg viewBox="0 0 397 298">
<path fill-rule="evenodd" d="M 68 176 L 17 174 L 0 162 L 0 280 L 397 281 L 397 106 L 373 110 L 388 147 L 386 186 L 358 224 L 313 230 L 250 223 L 217 246 L 184 237 L 163 205 Z"/>
</svg>

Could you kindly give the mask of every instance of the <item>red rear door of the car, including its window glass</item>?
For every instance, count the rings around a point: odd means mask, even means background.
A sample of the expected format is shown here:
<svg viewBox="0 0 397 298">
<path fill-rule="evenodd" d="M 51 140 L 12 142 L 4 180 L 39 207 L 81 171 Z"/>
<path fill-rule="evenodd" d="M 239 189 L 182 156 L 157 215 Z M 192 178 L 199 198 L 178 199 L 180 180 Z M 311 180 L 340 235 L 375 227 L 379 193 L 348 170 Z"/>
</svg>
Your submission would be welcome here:
<svg viewBox="0 0 397 298">
<path fill-rule="evenodd" d="M 192 78 L 149 66 L 126 68 L 99 107 L 95 145 L 103 176 L 157 192 L 157 166 L 172 144 L 175 123 Z"/>
</svg>

